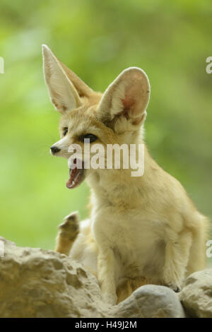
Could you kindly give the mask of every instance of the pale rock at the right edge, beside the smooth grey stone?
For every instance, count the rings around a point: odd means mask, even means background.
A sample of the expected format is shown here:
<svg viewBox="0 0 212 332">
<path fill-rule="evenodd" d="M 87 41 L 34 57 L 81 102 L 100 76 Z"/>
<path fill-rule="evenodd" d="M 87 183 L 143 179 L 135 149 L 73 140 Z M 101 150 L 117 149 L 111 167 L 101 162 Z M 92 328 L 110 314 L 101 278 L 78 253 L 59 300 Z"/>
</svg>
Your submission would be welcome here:
<svg viewBox="0 0 212 332">
<path fill-rule="evenodd" d="M 212 318 L 212 268 L 189 275 L 179 299 L 188 316 Z"/>
</svg>

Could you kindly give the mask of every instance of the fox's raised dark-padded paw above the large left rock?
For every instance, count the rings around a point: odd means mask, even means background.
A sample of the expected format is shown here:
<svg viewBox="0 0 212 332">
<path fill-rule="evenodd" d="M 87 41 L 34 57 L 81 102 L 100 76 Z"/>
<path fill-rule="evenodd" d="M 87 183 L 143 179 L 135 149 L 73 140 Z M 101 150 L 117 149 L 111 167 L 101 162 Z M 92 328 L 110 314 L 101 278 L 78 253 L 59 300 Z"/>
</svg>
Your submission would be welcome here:
<svg viewBox="0 0 212 332">
<path fill-rule="evenodd" d="M 61 223 L 61 225 L 59 225 L 59 235 L 61 237 L 66 237 L 67 239 L 73 239 L 74 237 L 76 237 L 76 235 L 78 235 L 78 223 L 78 213 L 70 213 L 70 215 L 67 215 L 64 218 L 64 223 Z"/>
</svg>

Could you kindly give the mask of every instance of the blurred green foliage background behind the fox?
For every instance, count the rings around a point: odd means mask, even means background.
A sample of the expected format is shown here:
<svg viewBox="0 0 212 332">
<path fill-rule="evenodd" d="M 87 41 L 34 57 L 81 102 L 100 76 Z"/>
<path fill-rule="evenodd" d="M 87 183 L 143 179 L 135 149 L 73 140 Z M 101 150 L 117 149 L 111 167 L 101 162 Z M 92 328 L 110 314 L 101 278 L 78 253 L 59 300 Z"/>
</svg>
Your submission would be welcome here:
<svg viewBox="0 0 212 332">
<path fill-rule="evenodd" d="M 88 187 L 66 189 L 67 161 L 49 154 L 59 114 L 43 80 L 43 43 L 95 90 L 128 66 L 148 73 L 151 155 L 212 217 L 211 22 L 210 0 L 1 0 L 0 235 L 53 249 L 65 215 L 88 215 Z"/>
</svg>

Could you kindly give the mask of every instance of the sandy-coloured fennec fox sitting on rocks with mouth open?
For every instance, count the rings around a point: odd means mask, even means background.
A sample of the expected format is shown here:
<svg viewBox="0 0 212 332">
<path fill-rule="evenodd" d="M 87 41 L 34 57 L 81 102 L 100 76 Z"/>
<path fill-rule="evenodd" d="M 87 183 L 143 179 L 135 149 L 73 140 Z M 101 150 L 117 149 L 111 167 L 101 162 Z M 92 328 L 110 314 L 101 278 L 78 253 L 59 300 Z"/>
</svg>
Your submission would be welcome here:
<svg viewBox="0 0 212 332">
<path fill-rule="evenodd" d="M 61 139 L 51 153 L 69 158 L 68 148 L 84 138 L 93 143 L 143 143 L 143 123 L 150 97 L 146 73 L 122 71 L 105 93 L 96 93 L 43 45 L 45 82 L 61 113 Z M 145 283 L 179 291 L 186 275 L 204 268 L 207 219 L 196 210 L 182 185 L 148 154 L 144 174 L 131 168 L 70 170 L 67 186 L 84 179 L 91 189 L 90 220 L 78 223 L 76 213 L 60 226 L 56 250 L 81 261 L 97 275 L 110 304 Z M 107 158 L 105 158 L 107 159 Z"/>
</svg>

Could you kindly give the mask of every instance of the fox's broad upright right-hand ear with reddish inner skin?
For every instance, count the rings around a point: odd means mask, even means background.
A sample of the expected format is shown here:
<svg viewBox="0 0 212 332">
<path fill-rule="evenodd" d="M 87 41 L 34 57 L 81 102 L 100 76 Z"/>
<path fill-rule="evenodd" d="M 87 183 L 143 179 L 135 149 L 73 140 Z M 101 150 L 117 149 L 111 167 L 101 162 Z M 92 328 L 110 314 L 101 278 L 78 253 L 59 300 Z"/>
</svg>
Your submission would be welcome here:
<svg viewBox="0 0 212 332">
<path fill-rule="evenodd" d="M 146 73 L 137 67 L 125 69 L 109 85 L 98 106 L 98 117 L 109 126 L 118 119 L 122 124 L 141 125 L 146 117 L 150 84 Z"/>
</svg>

